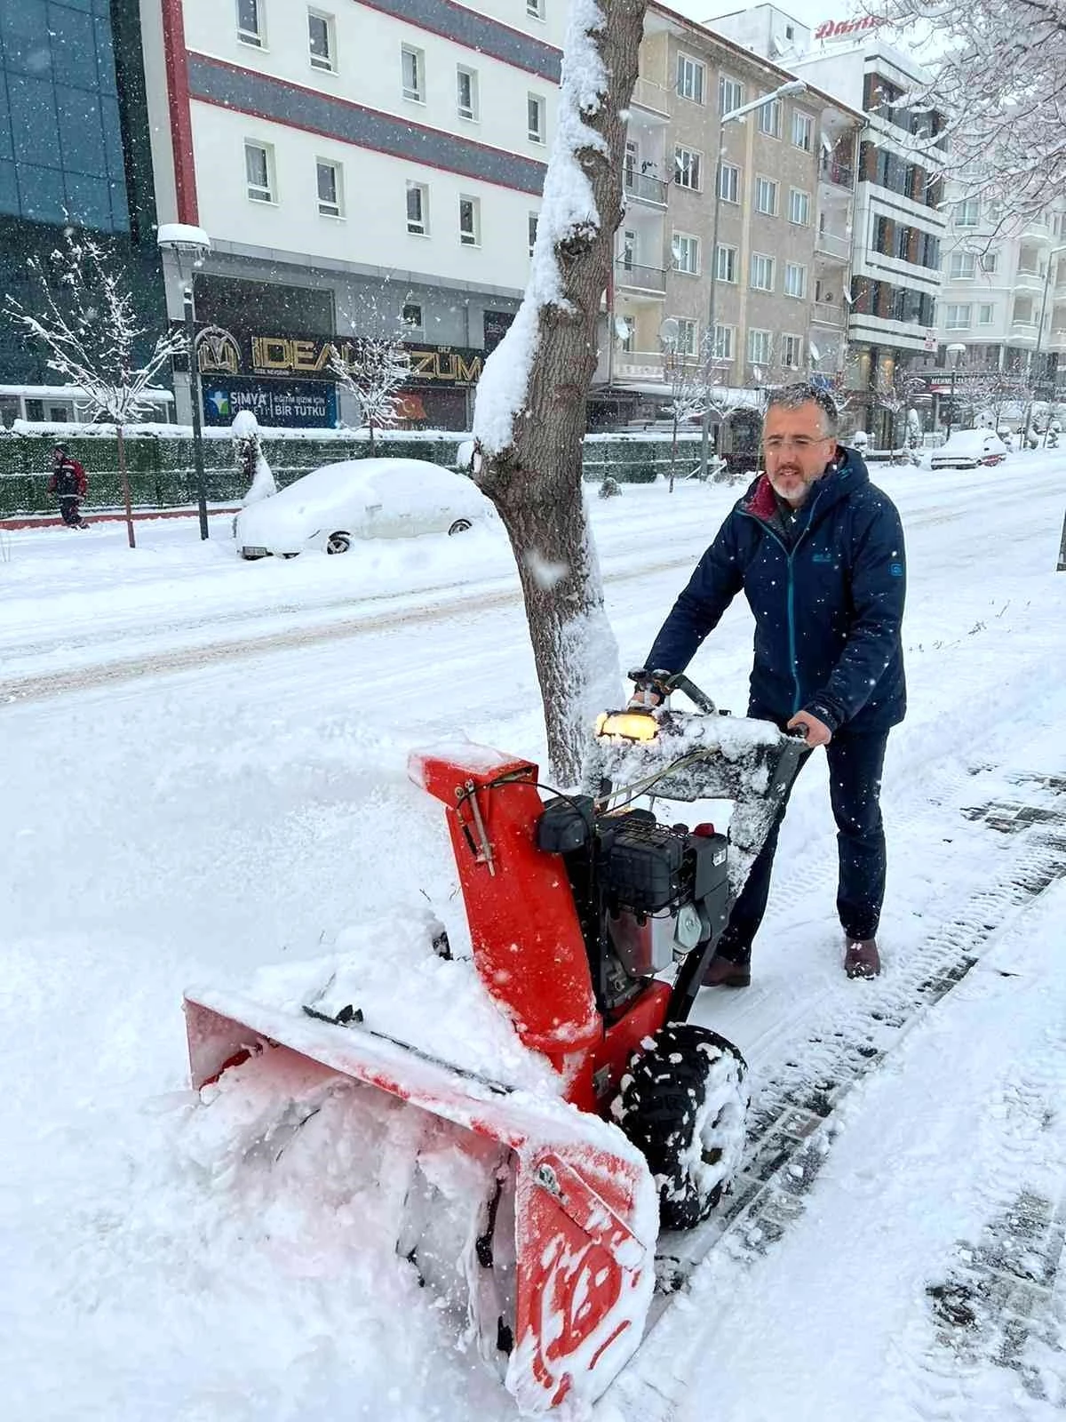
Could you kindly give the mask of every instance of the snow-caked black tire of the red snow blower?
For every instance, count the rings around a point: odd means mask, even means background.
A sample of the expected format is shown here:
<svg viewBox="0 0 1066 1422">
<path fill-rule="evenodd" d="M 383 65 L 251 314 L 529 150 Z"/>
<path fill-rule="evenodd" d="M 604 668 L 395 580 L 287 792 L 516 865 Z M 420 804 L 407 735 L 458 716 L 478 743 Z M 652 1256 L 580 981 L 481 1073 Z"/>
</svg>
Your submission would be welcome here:
<svg viewBox="0 0 1066 1422">
<path fill-rule="evenodd" d="M 692 1229 L 729 1190 L 743 1158 L 748 1065 L 725 1037 L 668 1022 L 634 1054 L 611 1115 L 644 1153 L 664 1229 Z"/>
</svg>

